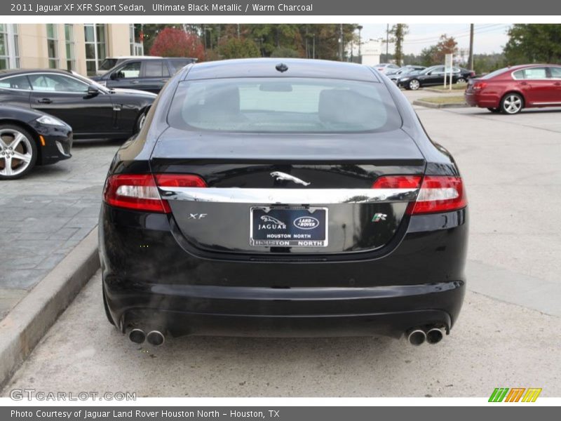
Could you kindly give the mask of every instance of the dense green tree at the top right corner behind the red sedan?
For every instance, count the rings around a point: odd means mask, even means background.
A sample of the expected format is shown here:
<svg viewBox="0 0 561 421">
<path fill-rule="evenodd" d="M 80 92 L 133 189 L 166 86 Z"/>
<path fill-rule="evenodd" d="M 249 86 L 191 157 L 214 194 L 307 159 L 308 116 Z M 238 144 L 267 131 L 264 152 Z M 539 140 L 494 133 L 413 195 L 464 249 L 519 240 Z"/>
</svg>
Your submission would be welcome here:
<svg viewBox="0 0 561 421">
<path fill-rule="evenodd" d="M 561 62 L 561 25 L 516 24 L 508 29 L 504 55 L 508 65 Z"/>
</svg>

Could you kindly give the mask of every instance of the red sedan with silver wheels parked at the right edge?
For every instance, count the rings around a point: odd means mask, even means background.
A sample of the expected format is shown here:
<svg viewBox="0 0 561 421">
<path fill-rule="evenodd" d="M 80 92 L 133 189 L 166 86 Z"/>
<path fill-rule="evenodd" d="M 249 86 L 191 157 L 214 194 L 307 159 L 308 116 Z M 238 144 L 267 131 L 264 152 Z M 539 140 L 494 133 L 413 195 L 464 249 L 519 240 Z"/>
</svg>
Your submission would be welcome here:
<svg viewBox="0 0 561 421">
<path fill-rule="evenodd" d="M 466 102 L 491 112 L 516 114 L 522 108 L 561 107 L 561 65 L 520 65 L 470 79 Z"/>
</svg>

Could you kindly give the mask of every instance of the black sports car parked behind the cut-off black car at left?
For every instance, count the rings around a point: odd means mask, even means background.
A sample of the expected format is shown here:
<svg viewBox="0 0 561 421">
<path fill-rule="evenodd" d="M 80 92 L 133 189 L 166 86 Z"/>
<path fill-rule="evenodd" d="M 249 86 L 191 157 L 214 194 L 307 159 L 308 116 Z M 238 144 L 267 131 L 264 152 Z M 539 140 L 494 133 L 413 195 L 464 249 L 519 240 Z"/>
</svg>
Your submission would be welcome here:
<svg viewBox="0 0 561 421">
<path fill-rule="evenodd" d="M 64 70 L 0 71 L 0 104 L 29 107 L 65 121 L 74 138 L 128 138 L 156 95 L 116 90 Z"/>
</svg>

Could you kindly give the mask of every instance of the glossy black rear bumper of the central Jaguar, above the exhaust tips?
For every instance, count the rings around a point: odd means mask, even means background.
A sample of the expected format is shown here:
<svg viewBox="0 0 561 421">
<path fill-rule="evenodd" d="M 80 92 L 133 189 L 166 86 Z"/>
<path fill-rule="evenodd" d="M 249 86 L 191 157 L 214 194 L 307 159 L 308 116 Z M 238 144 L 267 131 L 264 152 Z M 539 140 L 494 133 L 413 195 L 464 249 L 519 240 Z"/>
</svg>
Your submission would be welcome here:
<svg viewBox="0 0 561 421">
<path fill-rule="evenodd" d="M 466 210 L 414 217 L 384 256 L 234 262 L 181 248 L 168 216 L 102 206 L 104 293 L 121 331 L 170 335 L 388 335 L 450 330 L 465 293 Z"/>
</svg>

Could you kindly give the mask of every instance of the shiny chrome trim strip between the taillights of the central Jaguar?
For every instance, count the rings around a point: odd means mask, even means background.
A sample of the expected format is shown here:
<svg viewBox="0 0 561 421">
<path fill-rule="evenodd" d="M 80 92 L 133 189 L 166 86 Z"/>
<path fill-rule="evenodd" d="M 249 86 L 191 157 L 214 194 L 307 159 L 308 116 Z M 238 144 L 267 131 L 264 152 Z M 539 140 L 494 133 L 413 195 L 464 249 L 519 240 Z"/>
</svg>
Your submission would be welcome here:
<svg viewBox="0 0 561 421">
<path fill-rule="evenodd" d="M 242 189 L 238 187 L 158 187 L 162 199 L 216 203 L 327 205 L 408 202 L 419 189 Z"/>
</svg>

